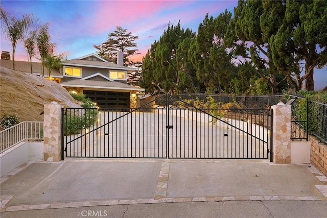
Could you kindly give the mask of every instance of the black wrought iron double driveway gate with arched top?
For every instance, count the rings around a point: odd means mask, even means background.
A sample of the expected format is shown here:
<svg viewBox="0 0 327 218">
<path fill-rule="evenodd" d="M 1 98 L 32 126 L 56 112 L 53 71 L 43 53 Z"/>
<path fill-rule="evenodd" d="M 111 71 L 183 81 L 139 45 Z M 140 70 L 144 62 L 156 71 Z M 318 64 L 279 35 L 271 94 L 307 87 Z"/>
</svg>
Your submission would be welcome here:
<svg viewBox="0 0 327 218">
<path fill-rule="evenodd" d="M 199 109 L 166 94 L 136 109 L 62 112 L 66 157 L 268 158 L 268 109 Z"/>
</svg>

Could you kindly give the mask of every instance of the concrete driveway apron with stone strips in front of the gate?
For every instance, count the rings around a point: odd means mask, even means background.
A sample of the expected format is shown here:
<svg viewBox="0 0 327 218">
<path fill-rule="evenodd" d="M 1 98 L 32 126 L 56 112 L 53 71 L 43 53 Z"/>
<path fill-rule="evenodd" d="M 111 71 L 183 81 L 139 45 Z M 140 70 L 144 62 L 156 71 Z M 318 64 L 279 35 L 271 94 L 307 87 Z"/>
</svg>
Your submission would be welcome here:
<svg viewBox="0 0 327 218">
<path fill-rule="evenodd" d="M 309 165 L 266 160 L 66 159 L 32 162 L 1 178 L 1 211 L 236 200 L 327 201 Z"/>
</svg>

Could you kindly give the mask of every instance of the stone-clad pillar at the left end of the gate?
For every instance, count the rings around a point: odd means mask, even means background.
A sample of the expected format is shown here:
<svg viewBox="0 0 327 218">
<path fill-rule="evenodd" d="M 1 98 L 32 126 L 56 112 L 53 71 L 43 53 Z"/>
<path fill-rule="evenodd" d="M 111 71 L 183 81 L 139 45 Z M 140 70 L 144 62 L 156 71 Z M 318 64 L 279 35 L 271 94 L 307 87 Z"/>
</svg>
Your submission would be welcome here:
<svg viewBox="0 0 327 218">
<path fill-rule="evenodd" d="M 57 102 L 44 104 L 44 161 L 61 160 L 61 105 Z"/>
</svg>

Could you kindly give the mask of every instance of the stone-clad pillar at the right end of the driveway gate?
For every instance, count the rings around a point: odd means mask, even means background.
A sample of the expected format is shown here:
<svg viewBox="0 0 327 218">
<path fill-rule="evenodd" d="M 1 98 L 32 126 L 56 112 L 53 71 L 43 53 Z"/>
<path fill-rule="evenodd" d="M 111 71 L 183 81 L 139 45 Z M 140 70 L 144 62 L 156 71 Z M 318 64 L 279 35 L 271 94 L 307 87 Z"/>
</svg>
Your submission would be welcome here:
<svg viewBox="0 0 327 218">
<path fill-rule="evenodd" d="M 273 162 L 291 163 L 291 105 L 278 103 L 273 109 Z"/>
</svg>

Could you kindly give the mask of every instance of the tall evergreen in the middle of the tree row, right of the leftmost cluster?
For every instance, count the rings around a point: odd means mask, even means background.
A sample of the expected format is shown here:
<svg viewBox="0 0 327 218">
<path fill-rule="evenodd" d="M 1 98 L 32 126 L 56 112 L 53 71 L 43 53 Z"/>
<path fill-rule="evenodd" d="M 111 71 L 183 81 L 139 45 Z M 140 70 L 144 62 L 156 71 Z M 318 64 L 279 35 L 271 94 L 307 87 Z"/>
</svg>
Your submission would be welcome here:
<svg viewBox="0 0 327 218">
<path fill-rule="evenodd" d="M 196 75 L 206 87 L 206 92 L 233 92 L 231 79 L 237 75 L 236 51 L 242 44 L 226 43 L 231 13 L 225 10 L 216 18 L 206 14 L 198 28 L 190 57 Z"/>
</svg>

